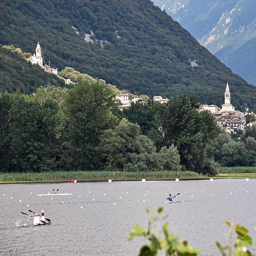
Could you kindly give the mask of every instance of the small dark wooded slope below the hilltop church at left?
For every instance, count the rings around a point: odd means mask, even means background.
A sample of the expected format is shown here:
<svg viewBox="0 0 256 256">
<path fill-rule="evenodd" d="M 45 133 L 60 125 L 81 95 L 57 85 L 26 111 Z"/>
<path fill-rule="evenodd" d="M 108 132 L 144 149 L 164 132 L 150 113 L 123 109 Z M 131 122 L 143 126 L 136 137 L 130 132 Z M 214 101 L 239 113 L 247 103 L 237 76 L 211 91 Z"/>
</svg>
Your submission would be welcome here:
<svg viewBox="0 0 256 256">
<path fill-rule="evenodd" d="M 0 47 L 0 91 L 23 93 L 35 92 L 47 84 L 64 86 L 57 76 L 44 72 L 38 65 L 32 65 L 16 52 Z"/>
</svg>

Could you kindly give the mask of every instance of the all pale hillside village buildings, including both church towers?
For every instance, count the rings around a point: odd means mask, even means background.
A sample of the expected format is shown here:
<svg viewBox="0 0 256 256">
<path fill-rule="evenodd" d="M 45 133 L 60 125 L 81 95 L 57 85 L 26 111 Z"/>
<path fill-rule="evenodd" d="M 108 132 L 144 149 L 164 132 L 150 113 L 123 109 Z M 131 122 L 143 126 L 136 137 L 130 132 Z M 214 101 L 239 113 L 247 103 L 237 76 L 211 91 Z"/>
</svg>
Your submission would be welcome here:
<svg viewBox="0 0 256 256">
<path fill-rule="evenodd" d="M 39 42 L 36 45 L 36 51 L 33 55 L 26 58 L 27 61 L 30 61 L 32 64 L 38 64 L 41 68 L 44 69 L 45 72 L 53 73 L 54 75 L 58 75 L 57 68 L 52 68 L 50 63 L 47 65 L 44 63 L 42 47 Z M 72 81 L 67 79 L 66 84 L 71 84 Z M 115 101 L 119 102 L 119 109 L 126 109 L 131 106 L 131 103 L 144 103 L 144 100 L 140 97 L 135 97 L 130 100 L 128 93 L 116 94 Z M 169 101 L 168 98 L 163 98 L 162 96 L 154 96 L 154 102 L 159 102 L 160 104 L 165 104 Z M 229 89 L 229 84 L 227 82 L 226 89 L 224 93 L 224 104 L 221 105 L 221 108 L 218 108 L 217 105 L 208 105 L 203 104 L 199 109 L 199 112 L 207 110 L 209 111 L 214 120 L 217 123 L 218 127 L 225 127 L 228 133 L 236 133 L 236 130 L 245 130 L 246 127 L 246 118 L 244 113 L 239 110 L 235 110 L 234 106 L 231 104 L 231 94 Z M 248 111 L 249 109 L 247 109 Z M 250 113 L 251 115 L 255 115 L 254 113 Z M 247 124 L 248 126 L 256 125 L 256 122 L 250 122 Z"/>
</svg>

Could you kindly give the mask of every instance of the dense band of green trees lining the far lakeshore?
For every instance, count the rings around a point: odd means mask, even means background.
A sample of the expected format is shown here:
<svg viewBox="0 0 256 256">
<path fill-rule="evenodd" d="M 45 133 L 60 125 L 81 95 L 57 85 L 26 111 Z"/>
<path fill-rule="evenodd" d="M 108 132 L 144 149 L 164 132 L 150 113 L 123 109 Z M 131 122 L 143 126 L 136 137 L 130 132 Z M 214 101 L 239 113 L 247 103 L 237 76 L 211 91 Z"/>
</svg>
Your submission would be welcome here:
<svg viewBox="0 0 256 256">
<path fill-rule="evenodd" d="M 0 171 L 196 171 L 256 165 L 256 127 L 237 141 L 216 127 L 199 98 L 148 100 L 121 112 L 100 82 L 0 93 Z"/>
</svg>

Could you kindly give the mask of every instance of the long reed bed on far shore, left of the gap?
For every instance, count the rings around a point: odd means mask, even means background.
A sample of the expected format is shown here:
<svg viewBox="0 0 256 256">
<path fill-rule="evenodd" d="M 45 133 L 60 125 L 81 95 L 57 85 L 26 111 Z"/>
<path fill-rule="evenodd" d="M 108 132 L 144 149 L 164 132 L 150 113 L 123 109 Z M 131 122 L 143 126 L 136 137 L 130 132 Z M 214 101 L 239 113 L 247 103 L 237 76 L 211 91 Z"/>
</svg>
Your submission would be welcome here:
<svg viewBox="0 0 256 256">
<path fill-rule="evenodd" d="M 59 172 L 28 172 L 28 173 L 0 173 L 1 183 L 26 182 L 61 182 L 61 181 L 103 181 L 103 180 L 168 180 L 168 179 L 197 179 L 204 178 L 196 172 L 171 171 L 59 171 Z"/>
</svg>

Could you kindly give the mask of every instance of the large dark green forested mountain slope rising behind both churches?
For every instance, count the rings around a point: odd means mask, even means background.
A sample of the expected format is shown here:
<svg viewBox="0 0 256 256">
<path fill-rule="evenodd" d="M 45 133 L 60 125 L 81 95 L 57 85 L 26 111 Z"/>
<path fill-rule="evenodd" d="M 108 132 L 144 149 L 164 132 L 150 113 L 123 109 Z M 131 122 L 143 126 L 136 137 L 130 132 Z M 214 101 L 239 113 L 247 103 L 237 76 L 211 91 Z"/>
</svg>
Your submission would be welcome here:
<svg viewBox="0 0 256 256">
<path fill-rule="evenodd" d="M 200 96 L 256 109 L 256 88 L 207 51 L 150 0 L 2 0 L 0 44 L 34 52 L 135 94 Z"/>
</svg>

